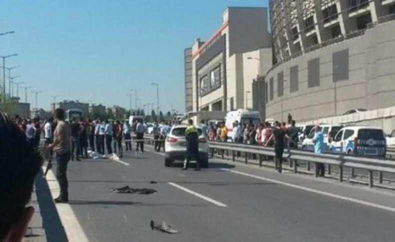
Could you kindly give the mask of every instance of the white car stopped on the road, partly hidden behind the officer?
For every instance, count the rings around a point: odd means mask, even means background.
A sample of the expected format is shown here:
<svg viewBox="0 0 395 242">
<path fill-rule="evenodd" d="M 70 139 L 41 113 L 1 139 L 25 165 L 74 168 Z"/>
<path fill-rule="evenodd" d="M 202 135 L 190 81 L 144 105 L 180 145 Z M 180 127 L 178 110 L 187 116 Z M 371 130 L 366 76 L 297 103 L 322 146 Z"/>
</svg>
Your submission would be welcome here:
<svg viewBox="0 0 395 242">
<path fill-rule="evenodd" d="M 164 141 L 164 166 L 169 167 L 174 161 L 184 161 L 186 157 L 186 125 L 173 126 Z M 208 143 L 200 128 L 199 135 L 199 160 L 200 167 L 208 167 Z"/>
</svg>

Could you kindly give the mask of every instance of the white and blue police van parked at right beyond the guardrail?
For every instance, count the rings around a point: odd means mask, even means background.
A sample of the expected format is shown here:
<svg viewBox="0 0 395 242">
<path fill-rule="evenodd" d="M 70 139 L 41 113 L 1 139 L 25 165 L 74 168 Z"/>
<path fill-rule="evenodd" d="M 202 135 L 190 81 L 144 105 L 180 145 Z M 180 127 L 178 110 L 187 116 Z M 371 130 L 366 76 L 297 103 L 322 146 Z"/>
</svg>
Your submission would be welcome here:
<svg viewBox="0 0 395 242">
<path fill-rule="evenodd" d="M 329 151 L 356 156 L 385 157 L 384 132 L 375 127 L 344 127 L 333 138 L 329 145 Z"/>
</svg>

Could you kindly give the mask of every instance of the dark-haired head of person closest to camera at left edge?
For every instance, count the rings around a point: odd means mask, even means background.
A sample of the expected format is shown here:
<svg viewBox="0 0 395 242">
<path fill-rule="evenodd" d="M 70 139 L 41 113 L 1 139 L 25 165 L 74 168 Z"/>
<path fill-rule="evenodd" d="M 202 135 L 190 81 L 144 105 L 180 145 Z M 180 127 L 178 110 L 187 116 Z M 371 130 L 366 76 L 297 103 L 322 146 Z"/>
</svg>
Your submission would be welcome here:
<svg viewBox="0 0 395 242">
<path fill-rule="evenodd" d="M 0 154 L 0 241 L 20 242 L 34 214 L 34 208 L 27 204 L 42 158 L 2 111 Z"/>
</svg>

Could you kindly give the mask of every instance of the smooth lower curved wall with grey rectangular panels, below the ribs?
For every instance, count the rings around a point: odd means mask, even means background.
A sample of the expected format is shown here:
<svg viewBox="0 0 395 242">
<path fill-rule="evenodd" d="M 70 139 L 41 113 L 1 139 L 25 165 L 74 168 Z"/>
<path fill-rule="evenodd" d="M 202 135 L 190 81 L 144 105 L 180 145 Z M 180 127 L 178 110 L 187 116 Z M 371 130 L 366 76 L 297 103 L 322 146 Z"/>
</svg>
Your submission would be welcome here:
<svg viewBox="0 0 395 242">
<path fill-rule="evenodd" d="M 296 121 L 395 105 L 395 21 L 272 67 L 266 118 Z"/>
</svg>

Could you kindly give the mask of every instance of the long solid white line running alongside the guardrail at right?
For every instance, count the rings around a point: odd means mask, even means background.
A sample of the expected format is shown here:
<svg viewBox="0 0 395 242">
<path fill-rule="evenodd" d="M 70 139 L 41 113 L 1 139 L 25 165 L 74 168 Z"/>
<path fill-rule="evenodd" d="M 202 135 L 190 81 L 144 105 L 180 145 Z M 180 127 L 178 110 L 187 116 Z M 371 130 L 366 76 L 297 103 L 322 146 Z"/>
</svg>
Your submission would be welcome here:
<svg viewBox="0 0 395 242">
<path fill-rule="evenodd" d="M 337 194 L 333 194 L 333 193 L 323 192 L 323 191 L 319 191 L 316 189 L 307 188 L 307 187 L 303 187 L 303 186 L 299 186 L 299 185 L 295 185 L 295 184 L 291 184 L 291 183 L 280 182 L 277 180 L 264 178 L 264 177 L 260 177 L 260 176 L 255 176 L 255 175 L 244 173 L 244 172 L 232 171 L 232 170 L 229 170 L 226 168 L 222 168 L 221 170 L 395 213 L 395 208 L 392 208 L 392 207 L 387 207 L 387 206 L 383 206 L 383 205 L 379 205 L 379 204 L 375 204 L 375 203 L 371 203 L 371 202 L 367 202 L 367 201 L 363 201 L 363 200 L 359 200 L 359 199 L 349 198 L 349 197 L 345 197 L 345 196 L 341 196 L 341 195 L 337 195 Z"/>
</svg>

